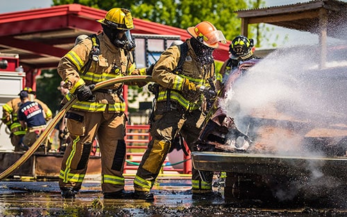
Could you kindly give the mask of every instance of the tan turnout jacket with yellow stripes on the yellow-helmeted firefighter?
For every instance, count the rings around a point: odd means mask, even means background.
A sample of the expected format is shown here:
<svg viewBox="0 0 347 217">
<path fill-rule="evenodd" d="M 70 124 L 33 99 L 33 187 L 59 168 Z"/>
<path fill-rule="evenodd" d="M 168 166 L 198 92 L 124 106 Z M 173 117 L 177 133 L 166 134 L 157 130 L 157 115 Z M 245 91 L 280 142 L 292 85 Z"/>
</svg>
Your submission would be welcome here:
<svg viewBox="0 0 347 217">
<path fill-rule="evenodd" d="M 58 73 L 62 80 L 67 83 L 67 88 L 71 94 L 74 94 L 76 89 L 84 84 L 91 85 L 111 78 L 145 74 L 144 70 L 135 69 L 136 65 L 131 52 L 126 53 L 124 49 L 117 48 L 103 33 L 96 37 L 100 42 L 99 60 L 97 62 L 92 61 L 90 69 L 85 73 L 84 66 L 89 60 L 92 49 L 90 37 L 74 46 L 59 62 Z M 122 83 L 117 83 L 108 88 L 118 90 L 122 87 Z M 126 109 L 126 103 L 116 93 L 94 92 L 93 94 L 93 101 L 77 101 L 72 108 L 88 112 L 103 112 L 108 108 L 108 111 L 115 113 L 124 112 Z M 66 96 L 66 98 L 69 100 L 71 95 Z"/>
</svg>

